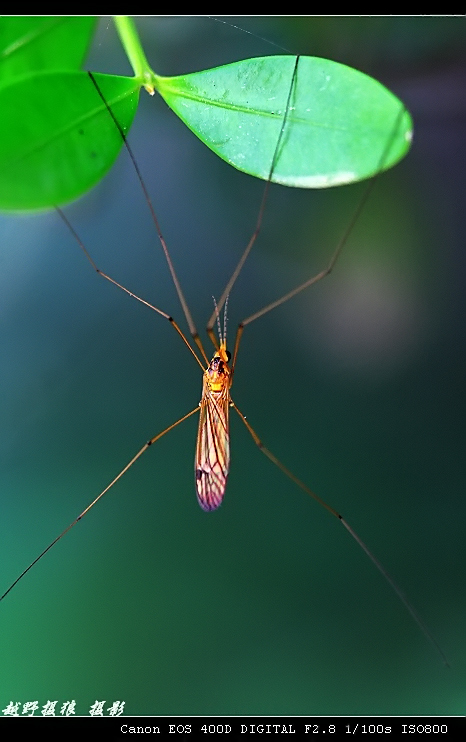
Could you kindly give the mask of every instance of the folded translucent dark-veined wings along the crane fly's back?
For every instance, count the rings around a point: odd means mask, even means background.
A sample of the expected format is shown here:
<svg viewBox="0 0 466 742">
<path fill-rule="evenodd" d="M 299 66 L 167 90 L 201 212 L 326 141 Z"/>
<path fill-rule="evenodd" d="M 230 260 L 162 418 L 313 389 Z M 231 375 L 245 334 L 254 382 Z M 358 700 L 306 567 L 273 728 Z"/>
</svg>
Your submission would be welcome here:
<svg viewBox="0 0 466 742">
<path fill-rule="evenodd" d="M 230 468 L 230 432 L 228 428 L 230 395 L 205 390 L 196 446 L 196 490 L 203 510 L 215 510 L 221 504 Z"/>
</svg>

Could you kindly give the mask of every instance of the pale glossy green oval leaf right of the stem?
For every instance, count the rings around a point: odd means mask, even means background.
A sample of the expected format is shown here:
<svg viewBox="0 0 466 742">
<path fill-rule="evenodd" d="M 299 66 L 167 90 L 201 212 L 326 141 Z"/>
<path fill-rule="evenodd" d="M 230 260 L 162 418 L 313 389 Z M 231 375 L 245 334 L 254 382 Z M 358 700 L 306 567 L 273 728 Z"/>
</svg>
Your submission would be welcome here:
<svg viewBox="0 0 466 742">
<path fill-rule="evenodd" d="M 179 77 L 157 90 L 210 149 L 238 170 L 269 177 L 296 57 L 259 57 Z M 324 188 L 368 178 L 408 151 L 401 101 L 358 70 L 300 57 L 272 180 Z"/>
</svg>

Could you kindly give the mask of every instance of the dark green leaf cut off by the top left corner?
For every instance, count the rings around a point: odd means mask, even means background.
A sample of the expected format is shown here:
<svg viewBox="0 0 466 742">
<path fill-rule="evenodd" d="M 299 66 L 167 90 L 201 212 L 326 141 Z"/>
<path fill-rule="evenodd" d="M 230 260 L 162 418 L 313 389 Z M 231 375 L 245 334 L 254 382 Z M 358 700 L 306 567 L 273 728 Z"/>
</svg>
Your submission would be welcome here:
<svg viewBox="0 0 466 742">
<path fill-rule="evenodd" d="M 96 25 L 93 17 L 3 16 L 0 80 L 46 69 L 79 69 Z"/>
</svg>

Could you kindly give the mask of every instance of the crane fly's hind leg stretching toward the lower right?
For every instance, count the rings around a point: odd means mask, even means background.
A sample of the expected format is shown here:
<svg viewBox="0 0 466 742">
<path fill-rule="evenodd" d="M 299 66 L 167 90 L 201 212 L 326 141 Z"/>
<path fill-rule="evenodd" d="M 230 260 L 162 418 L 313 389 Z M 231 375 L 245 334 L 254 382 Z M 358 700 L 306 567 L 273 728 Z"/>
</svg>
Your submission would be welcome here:
<svg viewBox="0 0 466 742">
<path fill-rule="evenodd" d="M 274 456 L 274 454 L 271 451 L 269 451 L 268 448 L 266 448 L 264 446 L 264 444 L 262 443 L 261 439 L 257 435 L 257 433 L 254 430 L 254 428 L 249 424 L 249 422 L 246 420 L 246 418 L 244 417 L 243 413 L 240 412 L 240 410 L 237 408 L 237 406 L 235 405 L 235 403 L 233 402 L 233 400 L 230 401 L 230 404 L 236 410 L 236 412 L 238 413 L 238 415 L 240 416 L 241 420 L 243 421 L 243 423 L 245 424 L 245 426 L 248 429 L 249 433 L 251 434 L 254 443 L 256 444 L 256 446 L 258 446 L 258 448 L 260 448 L 260 450 L 262 451 L 262 453 L 264 453 L 267 456 L 267 458 L 270 459 L 270 461 L 273 464 L 275 464 L 275 466 L 277 466 L 279 469 L 281 469 L 281 471 L 289 479 L 291 479 L 295 484 L 297 484 L 298 487 L 300 487 L 302 490 L 304 490 L 304 492 L 306 492 L 314 500 L 316 500 L 316 502 L 318 502 L 319 505 L 322 505 L 322 507 L 325 508 L 331 515 L 333 515 L 335 518 L 338 518 L 338 520 L 344 525 L 344 527 L 346 528 L 346 530 L 348 531 L 348 533 L 351 534 L 351 536 L 359 544 L 359 546 L 361 547 L 361 549 L 363 551 L 365 551 L 365 553 L 367 554 L 367 556 L 369 557 L 369 559 L 371 560 L 371 562 L 377 567 L 377 569 L 379 570 L 379 572 L 384 576 L 384 578 L 389 583 L 389 585 L 391 586 L 391 588 L 398 595 L 399 599 L 401 600 L 401 602 L 405 606 L 406 610 L 411 614 L 411 617 L 417 623 L 417 625 L 421 629 L 421 631 L 424 634 L 424 636 L 426 637 L 426 639 L 428 639 L 428 641 L 435 647 L 435 649 L 437 650 L 437 652 L 440 654 L 440 657 L 442 658 L 442 661 L 444 662 L 444 664 L 447 667 L 449 667 L 450 665 L 448 663 L 447 658 L 445 657 L 445 654 L 443 653 L 442 649 L 438 645 L 437 641 L 432 636 L 431 632 L 429 631 L 429 629 L 425 625 L 424 621 L 422 620 L 422 618 L 420 617 L 420 615 L 418 614 L 418 612 L 416 611 L 416 609 L 414 608 L 414 606 L 410 603 L 410 601 L 408 600 L 408 598 L 406 597 L 406 595 L 404 594 L 404 592 L 401 590 L 401 588 L 398 586 L 398 584 L 395 582 L 395 580 L 390 575 L 390 573 L 387 572 L 387 570 L 385 569 L 385 567 L 383 566 L 383 564 L 381 562 L 379 562 L 379 560 L 372 553 L 372 551 L 369 549 L 369 547 L 366 546 L 366 544 L 364 543 L 364 541 L 358 536 L 358 534 L 356 533 L 356 531 L 353 528 L 351 528 L 351 526 L 349 525 L 349 523 L 346 522 L 346 520 L 343 518 L 343 516 L 340 515 L 340 513 L 337 510 L 335 510 L 334 508 L 332 508 L 332 506 L 329 505 L 328 503 L 326 503 L 325 500 L 322 500 L 322 498 L 320 498 L 319 495 L 316 495 L 315 492 L 313 492 L 306 484 L 304 484 L 304 482 L 302 482 L 301 479 L 299 479 L 297 476 L 295 476 L 293 474 L 293 472 L 291 472 L 284 464 L 282 464 L 282 462 L 279 459 L 277 459 L 277 457 Z"/>
</svg>

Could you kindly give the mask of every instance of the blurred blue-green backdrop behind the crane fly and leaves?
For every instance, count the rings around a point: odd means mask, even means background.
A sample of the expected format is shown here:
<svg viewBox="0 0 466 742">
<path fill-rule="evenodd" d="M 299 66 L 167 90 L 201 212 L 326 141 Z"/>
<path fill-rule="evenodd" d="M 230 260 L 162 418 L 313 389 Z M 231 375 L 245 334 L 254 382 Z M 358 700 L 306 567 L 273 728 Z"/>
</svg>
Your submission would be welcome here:
<svg viewBox="0 0 466 742">
<path fill-rule="evenodd" d="M 197 505 L 197 420 L 172 431 L 0 608 L 0 703 L 126 702 L 128 714 L 465 711 L 465 21 L 225 19 L 381 79 L 410 109 L 334 274 L 248 327 L 233 398 L 406 591 L 446 669 L 341 525 L 232 419 L 224 504 Z M 208 18 L 142 19 L 179 74 L 282 53 Z M 91 69 L 128 73 L 110 22 Z M 131 141 L 202 329 L 263 184 L 143 94 Z M 363 186 L 274 187 L 230 297 L 238 321 L 320 270 Z M 66 210 L 102 270 L 182 320 L 124 155 Z M 56 214 L 0 221 L 3 591 L 143 442 L 199 400 L 158 316 L 95 275 Z M 183 325 L 184 326 L 184 325 Z"/>
</svg>

